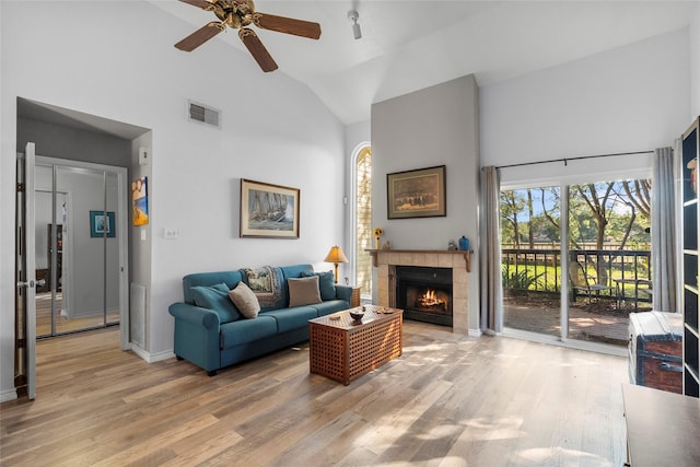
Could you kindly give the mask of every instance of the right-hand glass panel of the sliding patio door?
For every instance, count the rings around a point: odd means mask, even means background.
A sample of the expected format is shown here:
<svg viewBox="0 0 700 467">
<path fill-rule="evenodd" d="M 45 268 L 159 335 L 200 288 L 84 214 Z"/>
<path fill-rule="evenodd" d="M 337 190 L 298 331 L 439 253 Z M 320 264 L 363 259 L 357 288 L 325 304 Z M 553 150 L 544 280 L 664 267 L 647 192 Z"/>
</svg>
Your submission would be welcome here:
<svg viewBox="0 0 700 467">
<path fill-rule="evenodd" d="M 567 336 L 627 346 L 629 314 L 651 310 L 651 180 L 568 187 Z"/>
</svg>

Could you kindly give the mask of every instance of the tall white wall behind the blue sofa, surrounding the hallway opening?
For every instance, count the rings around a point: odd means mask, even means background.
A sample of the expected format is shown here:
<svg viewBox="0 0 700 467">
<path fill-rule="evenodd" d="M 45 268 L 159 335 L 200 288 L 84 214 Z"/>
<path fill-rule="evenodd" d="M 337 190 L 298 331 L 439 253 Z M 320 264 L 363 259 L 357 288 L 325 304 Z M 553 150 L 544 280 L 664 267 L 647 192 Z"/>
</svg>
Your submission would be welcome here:
<svg viewBox="0 0 700 467">
<path fill-rule="evenodd" d="M 13 387 L 14 261 L 5 258 L 14 257 L 18 96 L 152 129 L 150 358 L 171 354 L 167 306 L 182 299 L 184 275 L 328 268 L 323 258 L 345 232 L 343 127 L 305 85 L 262 73 L 219 39 L 175 49 L 194 27 L 140 1 L 2 1 L 0 17 L 0 397 Z M 188 98 L 221 109 L 222 128 L 187 121 Z M 301 189 L 299 240 L 238 237 L 242 177 Z M 164 240 L 165 227 L 179 238 Z"/>
</svg>

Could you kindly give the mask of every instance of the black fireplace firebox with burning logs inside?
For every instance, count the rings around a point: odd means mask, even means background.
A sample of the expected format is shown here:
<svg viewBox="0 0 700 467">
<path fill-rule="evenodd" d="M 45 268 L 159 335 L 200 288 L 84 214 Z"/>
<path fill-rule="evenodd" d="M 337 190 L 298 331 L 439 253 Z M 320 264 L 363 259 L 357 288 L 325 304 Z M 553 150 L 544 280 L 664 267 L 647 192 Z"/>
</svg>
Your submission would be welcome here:
<svg viewBox="0 0 700 467">
<path fill-rule="evenodd" d="M 397 266 L 395 293 L 405 318 L 452 326 L 452 269 Z"/>
</svg>

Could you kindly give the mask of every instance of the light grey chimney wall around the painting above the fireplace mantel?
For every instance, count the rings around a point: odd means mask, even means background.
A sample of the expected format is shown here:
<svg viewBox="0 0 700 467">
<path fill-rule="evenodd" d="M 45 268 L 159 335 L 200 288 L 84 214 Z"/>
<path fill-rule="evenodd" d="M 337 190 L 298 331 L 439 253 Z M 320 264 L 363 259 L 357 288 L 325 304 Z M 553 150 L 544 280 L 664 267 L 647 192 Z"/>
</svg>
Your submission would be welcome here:
<svg viewBox="0 0 700 467">
<path fill-rule="evenodd" d="M 386 174 L 446 165 L 444 218 L 387 220 Z M 372 225 L 397 249 L 447 249 L 466 235 L 479 264 L 479 102 L 474 75 L 372 106 Z M 479 329 L 478 268 L 469 275 L 469 329 Z"/>
</svg>

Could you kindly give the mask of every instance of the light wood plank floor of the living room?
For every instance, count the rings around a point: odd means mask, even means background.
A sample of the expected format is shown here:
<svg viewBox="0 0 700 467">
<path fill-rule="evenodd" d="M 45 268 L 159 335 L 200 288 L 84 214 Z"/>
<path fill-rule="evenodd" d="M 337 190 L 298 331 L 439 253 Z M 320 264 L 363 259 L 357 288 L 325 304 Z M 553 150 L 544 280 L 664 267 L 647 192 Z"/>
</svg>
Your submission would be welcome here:
<svg viewBox="0 0 700 467">
<path fill-rule="evenodd" d="M 1 406 L 3 466 L 621 466 L 627 360 L 405 323 L 342 386 L 308 347 L 208 377 L 118 329 L 38 342 L 37 398 Z"/>
</svg>

